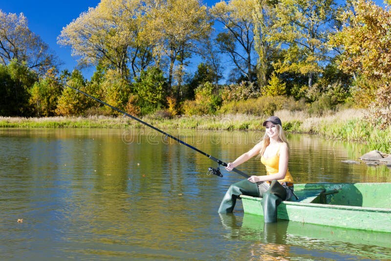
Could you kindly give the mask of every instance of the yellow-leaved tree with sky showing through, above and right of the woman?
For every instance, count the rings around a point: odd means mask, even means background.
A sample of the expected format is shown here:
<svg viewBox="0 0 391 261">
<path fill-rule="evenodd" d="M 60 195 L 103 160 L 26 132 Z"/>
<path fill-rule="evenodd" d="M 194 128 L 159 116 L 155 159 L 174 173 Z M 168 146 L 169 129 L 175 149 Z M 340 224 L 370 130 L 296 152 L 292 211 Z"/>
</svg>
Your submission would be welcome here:
<svg viewBox="0 0 391 261">
<path fill-rule="evenodd" d="M 274 6 L 269 41 L 282 50 L 282 58 L 274 64 L 277 73 L 305 75 L 308 88 L 312 87 L 331 55 L 328 39 L 337 11 L 334 0 L 280 0 Z"/>
</svg>

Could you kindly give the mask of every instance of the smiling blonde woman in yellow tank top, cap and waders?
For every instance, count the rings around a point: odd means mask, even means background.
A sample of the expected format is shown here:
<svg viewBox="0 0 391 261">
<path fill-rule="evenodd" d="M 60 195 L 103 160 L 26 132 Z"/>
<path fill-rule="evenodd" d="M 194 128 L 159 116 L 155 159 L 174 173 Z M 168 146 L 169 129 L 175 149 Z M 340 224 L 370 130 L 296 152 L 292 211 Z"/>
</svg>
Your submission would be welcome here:
<svg viewBox="0 0 391 261">
<path fill-rule="evenodd" d="M 218 213 L 232 212 L 236 199 L 242 194 L 263 197 L 269 190 L 273 180 L 278 180 L 283 187 L 280 195 L 283 195 L 284 198 L 280 196 L 281 200 L 287 200 L 293 195 L 294 181 L 288 171 L 289 146 L 282 130 L 281 120 L 277 116 L 270 116 L 262 125 L 266 127 L 266 133 L 261 142 L 248 152 L 240 155 L 234 162 L 228 163 L 225 169 L 232 171 L 243 162 L 259 155 L 261 156 L 261 162 L 266 167 L 267 175 L 253 175 L 248 179 L 232 184 L 221 201 Z M 272 184 L 275 187 L 275 182 Z"/>
</svg>

